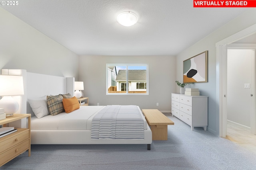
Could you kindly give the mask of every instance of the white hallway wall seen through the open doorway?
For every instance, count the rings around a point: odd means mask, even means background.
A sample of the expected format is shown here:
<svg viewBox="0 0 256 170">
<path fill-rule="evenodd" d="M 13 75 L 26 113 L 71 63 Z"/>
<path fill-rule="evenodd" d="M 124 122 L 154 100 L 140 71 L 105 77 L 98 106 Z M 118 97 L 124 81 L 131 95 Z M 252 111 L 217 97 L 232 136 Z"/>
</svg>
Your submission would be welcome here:
<svg viewBox="0 0 256 170">
<path fill-rule="evenodd" d="M 228 49 L 228 120 L 250 127 L 253 49 Z"/>
</svg>

